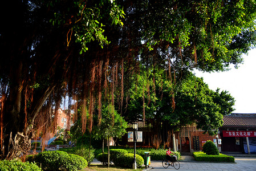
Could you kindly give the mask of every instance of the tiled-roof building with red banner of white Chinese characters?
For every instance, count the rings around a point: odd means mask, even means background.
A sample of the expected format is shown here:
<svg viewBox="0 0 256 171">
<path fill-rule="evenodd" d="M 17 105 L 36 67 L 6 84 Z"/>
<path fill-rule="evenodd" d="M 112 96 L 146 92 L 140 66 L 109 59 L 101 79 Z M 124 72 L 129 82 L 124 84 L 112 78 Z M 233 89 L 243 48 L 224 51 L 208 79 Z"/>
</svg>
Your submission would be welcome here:
<svg viewBox="0 0 256 171">
<path fill-rule="evenodd" d="M 256 113 L 224 116 L 219 128 L 222 152 L 256 153 Z"/>
</svg>

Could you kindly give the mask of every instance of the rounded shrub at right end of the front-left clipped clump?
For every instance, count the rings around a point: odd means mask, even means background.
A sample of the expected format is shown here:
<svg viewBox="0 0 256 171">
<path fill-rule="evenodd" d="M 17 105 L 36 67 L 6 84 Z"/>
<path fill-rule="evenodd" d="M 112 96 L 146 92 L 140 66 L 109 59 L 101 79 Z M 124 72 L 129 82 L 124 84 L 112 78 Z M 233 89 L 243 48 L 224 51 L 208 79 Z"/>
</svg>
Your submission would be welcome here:
<svg viewBox="0 0 256 171">
<path fill-rule="evenodd" d="M 62 168 L 64 170 L 82 170 L 86 168 L 88 162 L 81 156 L 76 154 L 68 154 L 67 158 L 62 160 Z"/>
</svg>

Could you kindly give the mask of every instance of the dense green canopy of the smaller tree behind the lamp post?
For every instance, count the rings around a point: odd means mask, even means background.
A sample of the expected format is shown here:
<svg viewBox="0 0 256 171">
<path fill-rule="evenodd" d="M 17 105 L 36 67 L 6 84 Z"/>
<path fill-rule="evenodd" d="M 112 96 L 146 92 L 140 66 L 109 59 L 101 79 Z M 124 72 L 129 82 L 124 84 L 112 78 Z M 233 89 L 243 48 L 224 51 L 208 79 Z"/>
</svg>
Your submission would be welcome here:
<svg viewBox="0 0 256 171">
<path fill-rule="evenodd" d="M 198 129 L 214 135 L 213 131 L 222 125 L 223 116 L 234 111 L 234 98 L 227 91 L 209 89 L 202 78 L 192 73 L 173 86 L 163 72 L 157 70 L 155 75 L 147 72 L 136 76 L 140 84 L 135 81 L 131 86 L 125 118 L 146 119 L 152 125 L 166 123 L 172 129 L 195 123 Z"/>
</svg>

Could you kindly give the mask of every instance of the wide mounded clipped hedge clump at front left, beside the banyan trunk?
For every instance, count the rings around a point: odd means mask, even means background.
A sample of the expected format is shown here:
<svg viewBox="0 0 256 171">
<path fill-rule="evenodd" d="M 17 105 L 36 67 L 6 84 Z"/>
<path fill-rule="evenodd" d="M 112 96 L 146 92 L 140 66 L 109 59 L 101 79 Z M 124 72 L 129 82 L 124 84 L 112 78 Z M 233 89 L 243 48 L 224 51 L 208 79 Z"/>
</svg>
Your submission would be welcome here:
<svg viewBox="0 0 256 171">
<path fill-rule="evenodd" d="M 47 151 L 27 156 L 27 161 L 35 162 L 42 170 L 81 170 L 88 165 L 87 161 L 78 155 L 62 151 Z"/>
</svg>

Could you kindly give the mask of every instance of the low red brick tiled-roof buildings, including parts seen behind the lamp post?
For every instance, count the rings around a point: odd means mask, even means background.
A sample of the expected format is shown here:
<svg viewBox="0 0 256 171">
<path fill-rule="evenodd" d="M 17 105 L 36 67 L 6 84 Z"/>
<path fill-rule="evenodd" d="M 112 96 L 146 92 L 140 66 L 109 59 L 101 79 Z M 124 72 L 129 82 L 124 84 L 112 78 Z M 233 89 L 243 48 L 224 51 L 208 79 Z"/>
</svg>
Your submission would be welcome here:
<svg viewBox="0 0 256 171">
<path fill-rule="evenodd" d="M 209 136 L 204 134 L 201 129 L 195 127 L 186 127 L 180 132 L 170 134 L 165 146 L 170 146 L 173 150 L 182 153 L 193 153 L 202 150 L 202 146 L 207 140 L 213 141 L 220 152 L 230 153 L 256 153 L 256 113 L 238 114 L 224 116 L 224 124 L 218 129 L 218 134 Z M 137 142 L 139 146 L 152 146 L 152 127 L 139 122 L 139 131 L 142 132 L 143 141 Z M 127 131 L 133 131 L 132 124 L 128 124 Z M 164 136 L 162 136 L 164 137 Z M 123 137 L 123 143 L 133 145 L 128 142 L 128 135 Z M 166 139 L 165 139 L 166 141 Z"/>
</svg>

